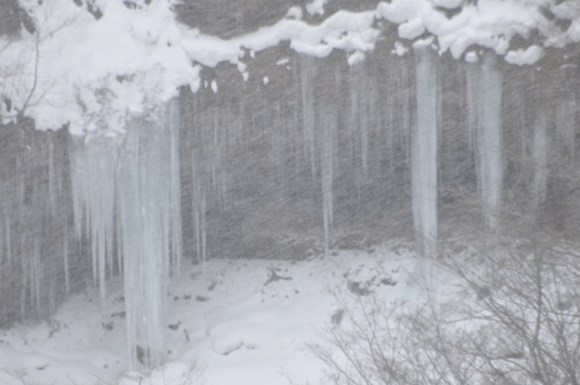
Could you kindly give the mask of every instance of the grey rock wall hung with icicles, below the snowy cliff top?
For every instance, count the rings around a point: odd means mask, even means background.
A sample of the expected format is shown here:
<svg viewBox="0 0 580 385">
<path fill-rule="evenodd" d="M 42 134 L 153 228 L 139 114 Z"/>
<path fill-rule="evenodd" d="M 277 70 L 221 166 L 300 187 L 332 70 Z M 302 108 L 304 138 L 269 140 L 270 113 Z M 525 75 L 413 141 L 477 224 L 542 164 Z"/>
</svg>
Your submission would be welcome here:
<svg viewBox="0 0 580 385">
<path fill-rule="evenodd" d="M 521 218 L 575 236 L 575 68 L 481 51 L 459 63 L 421 42 L 360 63 L 277 47 L 243 58 L 249 78 L 204 67 L 199 90 L 131 116 L 121 139 L 26 121 L 0 132 L 1 325 L 51 320 L 89 285 L 108 331 L 123 284 L 139 369 L 164 360 L 166 288 L 185 264 L 373 253 L 410 236 L 435 256 Z"/>
</svg>

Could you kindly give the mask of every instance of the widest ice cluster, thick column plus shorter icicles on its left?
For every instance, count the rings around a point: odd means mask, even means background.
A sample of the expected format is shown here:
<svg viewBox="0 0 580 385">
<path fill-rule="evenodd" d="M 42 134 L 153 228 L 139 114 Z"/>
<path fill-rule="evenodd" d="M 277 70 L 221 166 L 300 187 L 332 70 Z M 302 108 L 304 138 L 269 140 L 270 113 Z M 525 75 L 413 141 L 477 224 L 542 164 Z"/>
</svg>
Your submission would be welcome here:
<svg viewBox="0 0 580 385">
<path fill-rule="evenodd" d="M 115 273 L 116 232 L 131 368 L 154 367 L 165 357 L 169 265 L 178 272 L 181 253 L 178 108 L 171 101 L 147 117 L 131 118 L 121 145 L 103 137 L 72 143 L 76 233 L 82 236 L 84 224 L 103 322 L 106 277 Z"/>
</svg>

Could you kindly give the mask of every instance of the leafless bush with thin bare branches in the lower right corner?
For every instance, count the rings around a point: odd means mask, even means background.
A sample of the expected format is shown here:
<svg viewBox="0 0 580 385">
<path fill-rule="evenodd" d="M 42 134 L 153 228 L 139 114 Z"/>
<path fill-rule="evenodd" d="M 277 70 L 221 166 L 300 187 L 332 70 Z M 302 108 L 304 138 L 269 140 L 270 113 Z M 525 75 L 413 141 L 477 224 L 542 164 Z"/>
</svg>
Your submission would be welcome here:
<svg viewBox="0 0 580 385">
<path fill-rule="evenodd" d="M 343 297 L 324 332 L 336 349 L 314 352 L 335 384 L 578 383 L 579 258 L 546 239 L 447 255 L 423 271 L 422 304 Z"/>
</svg>

